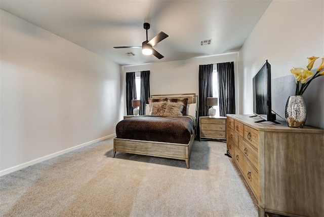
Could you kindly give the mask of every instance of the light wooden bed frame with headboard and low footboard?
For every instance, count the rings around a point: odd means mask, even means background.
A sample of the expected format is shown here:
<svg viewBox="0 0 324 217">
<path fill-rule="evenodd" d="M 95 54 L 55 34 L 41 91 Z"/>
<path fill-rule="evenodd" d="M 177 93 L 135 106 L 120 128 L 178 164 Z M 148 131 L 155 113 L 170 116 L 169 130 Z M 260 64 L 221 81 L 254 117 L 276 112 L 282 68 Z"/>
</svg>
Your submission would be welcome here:
<svg viewBox="0 0 324 217">
<path fill-rule="evenodd" d="M 167 98 L 188 98 L 188 104 L 196 103 L 196 94 L 194 93 L 151 95 L 151 98 L 166 98 L 166 97 Z M 192 148 L 194 138 L 195 138 L 195 133 L 191 135 L 188 144 L 114 138 L 112 157 L 113 158 L 115 157 L 116 152 L 124 152 L 130 154 L 179 159 L 179 160 L 185 160 L 186 166 L 187 168 L 189 168 L 189 158 L 190 158 L 191 148 Z"/>
</svg>

